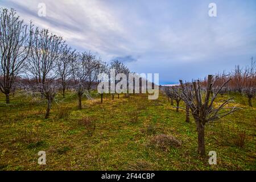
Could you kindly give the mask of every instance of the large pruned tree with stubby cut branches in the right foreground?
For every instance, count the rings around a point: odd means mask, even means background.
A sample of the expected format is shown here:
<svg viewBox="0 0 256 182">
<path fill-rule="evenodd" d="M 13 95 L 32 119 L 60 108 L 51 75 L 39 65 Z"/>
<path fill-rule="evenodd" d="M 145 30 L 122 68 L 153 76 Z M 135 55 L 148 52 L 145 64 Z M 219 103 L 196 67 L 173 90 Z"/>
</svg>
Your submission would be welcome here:
<svg viewBox="0 0 256 182">
<path fill-rule="evenodd" d="M 220 90 L 230 81 L 226 80 L 221 86 L 214 85 L 217 81 L 217 78 L 214 80 L 212 75 L 208 76 L 207 88 L 202 89 L 200 81 L 193 81 L 192 85 L 184 84 L 180 80 L 180 90 L 181 92 L 176 92 L 177 97 L 180 97 L 186 105 L 189 106 L 193 118 L 195 119 L 197 126 L 198 134 L 198 148 L 197 151 L 200 155 L 205 155 L 205 123 L 216 121 L 226 115 L 233 113 L 238 108 L 236 107 L 226 107 L 229 102 L 233 99 L 229 98 L 222 102 L 222 104 L 214 104 L 218 93 Z M 190 89 L 192 86 L 192 90 Z M 213 93 L 213 96 L 210 96 L 210 93 Z"/>
</svg>

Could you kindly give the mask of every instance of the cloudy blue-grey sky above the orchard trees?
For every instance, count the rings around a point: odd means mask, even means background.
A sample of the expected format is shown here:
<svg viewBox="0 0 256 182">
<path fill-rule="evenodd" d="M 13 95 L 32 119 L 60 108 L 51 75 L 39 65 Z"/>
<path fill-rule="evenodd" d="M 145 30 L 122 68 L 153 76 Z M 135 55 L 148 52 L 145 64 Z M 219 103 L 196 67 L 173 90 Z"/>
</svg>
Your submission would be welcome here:
<svg viewBox="0 0 256 182">
<path fill-rule="evenodd" d="M 39 16 L 39 3 L 46 16 Z M 217 16 L 210 17 L 209 3 Z M 63 36 L 78 51 L 131 71 L 159 73 L 160 84 L 191 81 L 256 60 L 256 1 L 0 0 L 25 22 Z"/>
</svg>

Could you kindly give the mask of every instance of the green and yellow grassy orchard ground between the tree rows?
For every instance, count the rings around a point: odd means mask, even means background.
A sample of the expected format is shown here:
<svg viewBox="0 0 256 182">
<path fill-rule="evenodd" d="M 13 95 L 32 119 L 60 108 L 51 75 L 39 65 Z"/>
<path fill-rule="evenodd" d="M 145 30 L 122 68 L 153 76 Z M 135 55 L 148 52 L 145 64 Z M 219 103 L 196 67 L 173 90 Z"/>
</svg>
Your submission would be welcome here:
<svg viewBox="0 0 256 182">
<path fill-rule="evenodd" d="M 1 170 L 255 170 L 256 102 L 235 96 L 236 113 L 206 125 L 205 145 L 217 152 L 217 165 L 197 154 L 196 125 L 185 122 L 185 112 L 170 105 L 163 93 L 158 100 L 146 94 L 123 94 L 114 100 L 92 94 L 82 100 L 69 92 L 56 97 L 49 119 L 40 97 L 16 93 L 5 105 L 0 95 Z M 218 100 L 228 98 L 220 96 Z M 181 106 L 183 106 L 181 102 Z M 164 135 L 162 135 L 164 134 Z M 164 137 L 165 136 L 165 137 Z M 172 136 L 172 137 L 170 137 Z M 178 143 L 173 143 L 170 138 Z M 46 151 L 46 165 L 38 152 Z"/>
</svg>

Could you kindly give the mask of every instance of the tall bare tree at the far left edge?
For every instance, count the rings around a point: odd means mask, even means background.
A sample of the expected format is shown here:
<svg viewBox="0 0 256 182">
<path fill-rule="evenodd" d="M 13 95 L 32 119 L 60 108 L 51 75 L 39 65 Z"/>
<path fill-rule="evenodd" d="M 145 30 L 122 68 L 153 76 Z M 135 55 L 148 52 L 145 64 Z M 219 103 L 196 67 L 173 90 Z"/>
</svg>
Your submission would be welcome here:
<svg viewBox="0 0 256 182">
<path fill-rule="evenodd" d="M 1 9 L 0 22 L 0 90 L 6 96 L 6 104 L 10 104 L 15 78 L 30 52 L 32 25 L 24 24 L 13 9 Z"/>
</svg>

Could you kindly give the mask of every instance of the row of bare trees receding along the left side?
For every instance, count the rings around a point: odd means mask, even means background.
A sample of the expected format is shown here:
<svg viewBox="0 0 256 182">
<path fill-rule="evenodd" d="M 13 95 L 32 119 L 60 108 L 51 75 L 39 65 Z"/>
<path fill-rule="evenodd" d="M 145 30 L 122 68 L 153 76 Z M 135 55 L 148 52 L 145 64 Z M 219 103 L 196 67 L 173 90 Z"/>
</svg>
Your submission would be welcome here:
<svg viewBox="0 0 256 182">
<path fill-rule="evenodd" d="M 46 118 L 58 90 L 63 97 L 67 89 L 75 90 L 82 109 L 84 94 L 101 81 L 99 73 L 109 73 L 112 68 L 116 74 L 130 73 L 121 61 L 108 65 L 90 51 L 69 47 L 48 29 L 24 23 L 14 9 L 0 9 L 0 56 L 0 90 L 6 104 L 10 104 L 10 94 L 16 88 L 41 93 L 47 100 Z"/>
</svg>

